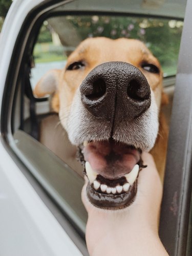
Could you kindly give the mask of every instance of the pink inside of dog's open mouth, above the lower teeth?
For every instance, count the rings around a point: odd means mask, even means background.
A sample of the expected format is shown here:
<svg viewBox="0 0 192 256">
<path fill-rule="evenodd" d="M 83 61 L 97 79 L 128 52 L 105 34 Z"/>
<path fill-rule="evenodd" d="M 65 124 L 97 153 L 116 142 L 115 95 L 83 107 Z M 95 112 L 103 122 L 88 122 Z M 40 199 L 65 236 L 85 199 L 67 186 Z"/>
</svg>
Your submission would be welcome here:
<svg viewBox="0 0 192 256">
<path fill-rule="evenodd" d="M 120 142 L 92 141 L 82 153 L 92 169 L 106 179 L 117 179 L 131 172 L 140 160 L 140 153 Z"/>
</svg>

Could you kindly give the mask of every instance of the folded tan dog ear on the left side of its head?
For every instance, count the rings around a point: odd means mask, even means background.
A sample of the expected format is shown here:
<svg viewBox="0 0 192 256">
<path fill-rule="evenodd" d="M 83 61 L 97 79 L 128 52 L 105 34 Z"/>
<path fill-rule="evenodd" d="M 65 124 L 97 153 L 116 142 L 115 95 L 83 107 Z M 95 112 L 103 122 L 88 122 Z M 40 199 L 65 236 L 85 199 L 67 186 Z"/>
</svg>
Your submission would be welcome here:
<svg viewBox="0 0 192 256">
<path fill-rule="evenodd" d="M 58 97 L 58 84 L 62 70 L 54 69 L 48 71 L 41 79 L 37 82 L 33 91 L 34 96 L 44 97 L 48 94 L 53 94 L 52 108 L 55 112 L 59 112 L 59 97 Z"/>
</svg>

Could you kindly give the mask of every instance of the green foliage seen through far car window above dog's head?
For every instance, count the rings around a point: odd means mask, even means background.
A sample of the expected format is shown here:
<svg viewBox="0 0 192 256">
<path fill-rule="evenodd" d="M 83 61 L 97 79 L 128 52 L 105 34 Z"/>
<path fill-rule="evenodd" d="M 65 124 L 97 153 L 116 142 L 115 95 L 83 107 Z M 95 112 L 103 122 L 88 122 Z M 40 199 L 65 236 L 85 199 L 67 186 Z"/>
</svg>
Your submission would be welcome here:
<svg viewBox="0 0 192 256">
<path fill-rule="evenodd" d="M 122 16 L 68 16 L 67 19 L 82 39 L 95 36 L 136 38 L 146 44 L 165 71 L 170 70 L 170 66 L 176 68 L 183 28 L 180 21 Z"/>
</svg>

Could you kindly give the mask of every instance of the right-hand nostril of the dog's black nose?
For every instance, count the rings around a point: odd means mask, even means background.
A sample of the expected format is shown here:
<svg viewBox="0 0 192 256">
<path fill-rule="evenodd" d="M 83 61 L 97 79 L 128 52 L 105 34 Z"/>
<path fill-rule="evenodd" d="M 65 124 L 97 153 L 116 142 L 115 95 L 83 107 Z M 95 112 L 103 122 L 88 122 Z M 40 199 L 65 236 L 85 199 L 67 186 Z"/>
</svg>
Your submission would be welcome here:
<svg viewBox="0 0 192 256">
<path fill-rule="evenodd" d="M 148 90 L 137 80 L 133 79 L 127 86 L 127 95 L 135 100 L 145 100 L 149 97 Z"/>
</svg>

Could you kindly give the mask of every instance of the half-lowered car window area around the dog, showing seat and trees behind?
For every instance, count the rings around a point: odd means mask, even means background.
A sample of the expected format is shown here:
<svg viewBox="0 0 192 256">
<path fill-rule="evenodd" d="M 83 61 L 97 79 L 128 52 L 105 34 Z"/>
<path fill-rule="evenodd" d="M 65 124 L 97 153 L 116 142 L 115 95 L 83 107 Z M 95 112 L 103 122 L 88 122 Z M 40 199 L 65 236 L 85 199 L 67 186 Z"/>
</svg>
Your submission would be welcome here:
<svg viewBox="0 0 192 256">
<path fill-rule="evenodd" d="M 82 40 L 98 36 L 143 41 L 159 59 L 164 77 L 173 76 L 177 68 L 182 27 L 180 19 L 127 15 L 59 15 L 41 23 L 31 51 L 28 75 L 25 81 L 21 81 L 25 91 L 20 89 L 15 98 L 17 105 L 14 111 L 20 112 L 20 119 L 13 119 L 12 130 L 14 139 L 18 141 L 17 148 L 23 152 L 32 173 L 60 207 L 73 217 L 73 223 L 81 233 L 87 220 L 80 200 L 83 166 L 76 158 L 76 146 L 71 144 L 58 113 L 52 108 L 55 93 L 37 98 L 33 94 L 35 86 L 46 72 L 63 69 L 68 56 Z M 17 110 L 19 104 L 22 104 L 22 109 Z M 24 144 L 26 140 L 33 145 L 33 154 L 30 147 Z M 46 163 L 43 159 L 47 159 Z M 54 172 L 54 165 L 57 172 Z M 70 186 L 75 183 L 78 184 L 75 190 L 70 191 Z M 67 190 L 62 188 L 62 184 Z"/>
</svg>

